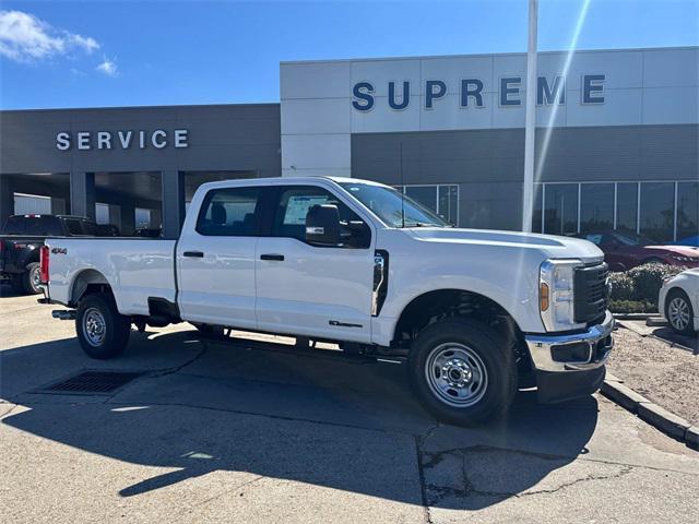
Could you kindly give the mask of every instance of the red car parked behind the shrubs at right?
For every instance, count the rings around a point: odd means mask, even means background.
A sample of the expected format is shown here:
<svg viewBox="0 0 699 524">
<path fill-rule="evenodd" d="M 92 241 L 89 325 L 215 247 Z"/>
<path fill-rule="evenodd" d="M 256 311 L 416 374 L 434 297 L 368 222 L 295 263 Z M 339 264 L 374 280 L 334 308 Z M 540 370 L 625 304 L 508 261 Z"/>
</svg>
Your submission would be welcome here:
<svg viewBox="0 0 699 524">
<path fill-rule="evenodd" d="M 626 231 L 584 233 L 576 237 L 590 240 L 604 251 L 611 271 L 626 271 L 649 262 L 699 267 L 699 248 L 656 246 L 649 238 Z"/>
</svg>

